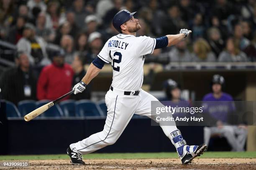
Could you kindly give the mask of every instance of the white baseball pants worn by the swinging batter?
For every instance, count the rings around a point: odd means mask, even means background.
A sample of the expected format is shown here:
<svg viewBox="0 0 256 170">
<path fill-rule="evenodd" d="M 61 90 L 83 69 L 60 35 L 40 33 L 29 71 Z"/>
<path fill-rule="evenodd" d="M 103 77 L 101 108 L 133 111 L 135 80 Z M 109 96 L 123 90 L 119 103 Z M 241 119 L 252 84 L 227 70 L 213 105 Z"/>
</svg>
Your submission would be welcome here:
<svg viewBox="0 0 256 170">
<path fill-rule="evenodd" d="M 140 90 L 140 94 L 137 96 L 123 95 L 123 92 L 115 89 L 114 92 L 109 90 L 105 95 L 108 115 L 104 129 L 82 141 L 71 144 L 70 148 L 77 153 L 87 154 L 114 144 L 123 133 L 134 113 L 151 117 L 151 101 L 158 100 L 144 90 Z M 161 128 L 169 139 L 172 139 L 170 134 L 177 130 L 176 125 L 161 126 Z"/>
</svg>

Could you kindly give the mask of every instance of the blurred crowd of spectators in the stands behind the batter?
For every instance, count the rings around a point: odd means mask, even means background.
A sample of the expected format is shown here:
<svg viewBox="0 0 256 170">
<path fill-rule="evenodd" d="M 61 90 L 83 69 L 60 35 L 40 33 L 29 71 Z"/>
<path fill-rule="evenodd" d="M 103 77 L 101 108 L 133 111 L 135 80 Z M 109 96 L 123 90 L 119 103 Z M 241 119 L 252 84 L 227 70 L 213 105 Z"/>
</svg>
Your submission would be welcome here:
<svg viewBox="0 0 256 170">
<path fill-rule="evenodd" d="M 167 58 L 164 65 L 256 60 L 256 0 L 1 0 L 0 40 L 16 45 L 18 65 L 1 74 L 3 97 L 16 104 L 68 92 L 84 75 L 83 65 L 119 33 L 112 18 L 122 9 L 138 11 L 142 28 L 137 36 L 192 30 L 179 44 L 148 55 Z M 59 48 L 49 50 L 54 45 Z M 90 99 L 87 91 L 76 99 Z"/>
</svg>

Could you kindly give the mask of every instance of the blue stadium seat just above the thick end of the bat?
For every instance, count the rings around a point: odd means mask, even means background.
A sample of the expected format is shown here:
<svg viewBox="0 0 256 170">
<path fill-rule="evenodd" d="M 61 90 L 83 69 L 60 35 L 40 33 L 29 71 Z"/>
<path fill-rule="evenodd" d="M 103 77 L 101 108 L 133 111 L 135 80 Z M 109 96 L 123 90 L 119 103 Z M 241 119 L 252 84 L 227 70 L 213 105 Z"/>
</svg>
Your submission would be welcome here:
<svg viewBox="0 0 256 170">
<path fill-rule="evenodd" d="M 34 100 L 22 100 L 18 102 L 18 110 L 21 116 L 25 116 L 26 114 L 32 112 L 36 109 L 36 101 Z"/>
</svg>

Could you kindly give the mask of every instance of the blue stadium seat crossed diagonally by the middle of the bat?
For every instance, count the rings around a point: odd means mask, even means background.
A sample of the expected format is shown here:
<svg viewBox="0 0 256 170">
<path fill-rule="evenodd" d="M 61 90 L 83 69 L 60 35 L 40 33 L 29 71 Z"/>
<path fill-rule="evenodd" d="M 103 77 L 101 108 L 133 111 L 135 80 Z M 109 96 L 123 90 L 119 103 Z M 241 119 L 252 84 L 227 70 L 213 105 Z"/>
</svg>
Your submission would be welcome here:
<svg viewBox="0 0 256 170">
<path fill-rule="evenodd" d="M 36 108 L 41 107 L 50 102 L 50 100 L 40 100 L 36 102 Z M 50 109 L 46 110 L 41 114 L 41 117 L 61 117 L 63 116 L 63 112 L 59 105 L 53 105 Z"/>
</svg>

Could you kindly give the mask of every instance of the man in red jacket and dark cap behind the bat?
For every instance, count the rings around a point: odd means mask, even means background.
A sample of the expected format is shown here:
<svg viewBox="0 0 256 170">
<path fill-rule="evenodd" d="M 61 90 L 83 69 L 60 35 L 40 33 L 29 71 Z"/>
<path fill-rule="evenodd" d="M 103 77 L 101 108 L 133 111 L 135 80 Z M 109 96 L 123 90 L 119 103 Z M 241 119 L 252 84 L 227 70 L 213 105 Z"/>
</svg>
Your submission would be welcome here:
<svg viewBox="0 0 256 170">
<path fill-rule="evenodd" d="M 74 72 L 72 67 L 64 62 L 64 50 L 52 51 L 51 57 L 52 64 L 43 68 L 37 82 L 38 100 L 55 100 L 72 88 Z"/>
</svg>

